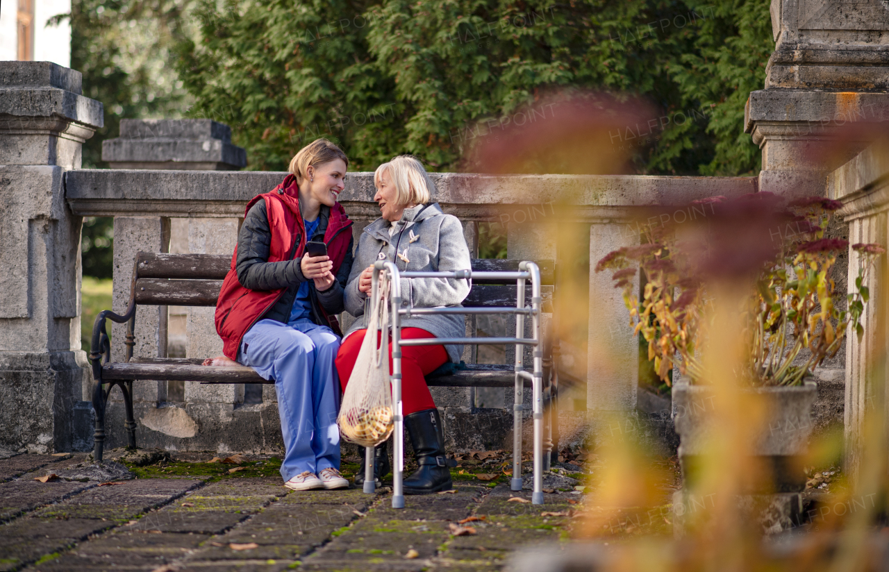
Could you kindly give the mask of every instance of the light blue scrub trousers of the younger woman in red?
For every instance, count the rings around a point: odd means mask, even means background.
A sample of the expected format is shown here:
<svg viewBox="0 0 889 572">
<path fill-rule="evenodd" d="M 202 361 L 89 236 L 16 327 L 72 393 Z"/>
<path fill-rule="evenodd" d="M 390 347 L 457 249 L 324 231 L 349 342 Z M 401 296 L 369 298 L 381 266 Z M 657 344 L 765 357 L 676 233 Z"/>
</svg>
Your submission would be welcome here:
<svg viewBox="0 0 889 572">
<path fill-rule="evenodd" d="M 261 320 L 244 334 L 238 361 L 275 380 L 284 481 L 304 472 L 340 469 L 340 381 L 333 360 L 340 337 L 307 319 Z"/>
</svg>

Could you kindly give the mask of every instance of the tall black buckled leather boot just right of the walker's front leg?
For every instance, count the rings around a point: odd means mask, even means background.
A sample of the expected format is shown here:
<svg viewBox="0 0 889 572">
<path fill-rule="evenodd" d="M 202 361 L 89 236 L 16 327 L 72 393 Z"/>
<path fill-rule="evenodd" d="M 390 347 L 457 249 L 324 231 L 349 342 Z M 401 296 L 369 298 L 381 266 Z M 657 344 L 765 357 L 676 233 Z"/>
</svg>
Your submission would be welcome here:
<svg viewBox="0 0 889 572">
<path fill-rule="evenodd" d="M 426 495 L 451 489 L 451 472 L 445 458 L 445 428 L 438 409 L 424 409 L 404 416 L 411 437 L 413 457 L 420 468 L 404 479 L 405 495 Z"/>
</svg>

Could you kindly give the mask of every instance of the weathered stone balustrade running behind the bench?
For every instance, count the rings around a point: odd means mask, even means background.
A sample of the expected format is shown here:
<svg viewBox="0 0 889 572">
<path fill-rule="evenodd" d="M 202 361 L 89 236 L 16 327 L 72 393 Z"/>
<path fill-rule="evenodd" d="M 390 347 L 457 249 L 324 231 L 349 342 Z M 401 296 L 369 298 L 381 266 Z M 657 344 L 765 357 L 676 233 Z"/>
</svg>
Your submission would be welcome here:
<svg viewBox="0 0 889 572">
<path fill-rule="evenodd" d="M 234 245 L 237 230 L 237 226 L 228 221 L 243 217 L 245 203 L 255 195 L 268 192 L 286 174 L 80 170 L 66 176 L 66 198 L 71 211 L 80 216 L 113 216 L 116 221 L 152 221 L 150 232 L 134 226 L 132 222 L 127 223 L 131 225 L 127 232 L 118 232 L 117 222 L 115 224 L 116 273 L 119 270 L 119 276 L 115 274 L 115 309 L 123 310 L 126 300 L 117 292 L 120 290 L 121 294 L 129 294 L 132 266 L 117 266 L 118 252 L 125 253 L 121 255 L 123 262 L 124 258 L 132 260 L 136 250 L 148 247 L 163 251 L 162 242 L 170 240 L 167 234 L 174 234 L 165 229 L 174 228 L 177 221 L 188 221 L 188 250 L 181 251 L 209 252 L 198 244 L 200 241 L 196 235 L 212 234 L 213 240 L 219 244 L 217 250 L 228 253 Z M 589 240 L 589 259 L 594 265 L 610 250 L 638 240 L 638 228 L 630 226 L 629 221 L 647 207 L 685 204 L 711 195 L 736 196 L 757 190 L 755 178 L 493 176 L 467 173 L 431 173 L 431 177 L 437 188 L 435 200 L 442 204 L 446 212 L 464 221 L 464 234 L 474 253 L 478 248 L 477 224 L 487 221 L 506 226 L 509 258 L 557 258 L 554 230 L 561 222 L 570 222 L 580 225 L 583 235 L 578 236 L 578 240 Z M 350 218 L 355 220 L 353 230 L 356 243 L 364 226 L 378 217 L 378 208 L 372 201 L 373 194 L 372 172 L 348 174 L 340 203 Z M 169 249 L 174 250 L 172 245 Z M 620 292 L 613 289 L 606 274 L 590 273 L 589 280 L 584 279 L 584 282 L 589 283 L 589 294 L 584 294 L 589 296 L 589 339 L 586 341 L 596 351 L 589 355 L 582 353 L 582 350 L 574 350 L 573 354 L 569 351 L 564 359 L 577 364 L 579 367 L 575 369 L 580 369 L 583 372 L 581 375 L 586 377 L 584 394 L 587 409 L 593 412 L 592 417 L 601 411 L 631 412 L 636 407 L 638 346 L 626 327 L 626 309 Z M 189 309 L 189 357 L 220 353 L 219 338 L 212 325 L 212 309 L 207 310 Z M 163 313 L 164 309 L 159 311 Z M 343 316 L 343 319 L 348 321 L 349 317 Z M 514 328 L 514 323 L 511 327 L 508 323 L 508 332 L 510 329 L 514 331 Z M 475 330 L 474 322 L 469 320 L 468 330 Z M 163 354 L 167 331 L 154 314 L 144 321 L 140 316 L 136 333 L 137 355 Z M 511 348 L 508 348 L 507 362 L 512 359 L 511 355 Z M 603 355 L 610 358 L 603 360 Z M 464 359 L 474 361 L 469 347 Z M 151 443 L 173 448 L 218 449 L 228 445 L 237 450 L 260 450 L 279 439 L 276 422 L 270 419 L 265 419 L 262 424 L 257 423 L 252 431 L 240 431 L 241 424 L 236 419 L 256 417 L 260 414 L 254 410 L 262 407 L 245 405 L 242 389 L 231 386 L 208 391 L 204 387 L 187 387 L 184 404 L 164 401 L 164 390 L 160 386 L 155 388 L 151 385 L 143 393 L 137 393 L 137 420 L 140 415 L 150 416 L 148 421 L 154 426 L 149 429 L 155 431 L 155 427 L 160 428 L 155 433 L 143 430 L 140 433 L 143 435 L 140 437 L 142 442 L 148 438 Z M 449 419 L 452 425 L 462 430 L 467 425 L 473 430 L 463 433 L 485 434 L 496 432 L 498 428 L 501 431 L 509 430 L 509 425 L 504 424 L 504 420 L 509 421 L 507 411 L 479 411 L 474 407 L 484 404 L 485 409 L 503 408 L 505 403 L 512 402 L 511 390 L 434 388 L 433 392 L 436 403 L 445 408 L 446 420 Z M 271 386 L 266 386 L 262 401 L 263 404 L 274 401 Z M 180 409 L 180 405 L 184 405 L 184 409 Z M 194 425 L 188 423 L 182 410 L 188 412 L 188 418 L 194 420 Z M 116 426 L 116 417 L 120 415 L 122 413 L 112 412 L 112 425 L 109 426 Z M 160 434 L 164 433 L 164 425 L 172 426 L 156 422 L 164 416 L 171 420 L 175 417 L 188 426 L 211 422 L 214 431 L 204 432 L 202 429 L 189 437 L 179 437 L 169 432 Z M 202 421 L 200 416 L 206 416 L 206 421 Z M 146 425 L 146 420 L 143 419 L 141 424 Z M 261 438 L 255 430 L 255 426 L 260 425 L 264 433 Z M 234 433 L 235 429 L 238 433 Z M 123 442 L 123 433 L 118 433 L 110 432 L 112 446 L 116 442 Z M 478 446 L 477 443 L 474 445 Z"/>
</svg>

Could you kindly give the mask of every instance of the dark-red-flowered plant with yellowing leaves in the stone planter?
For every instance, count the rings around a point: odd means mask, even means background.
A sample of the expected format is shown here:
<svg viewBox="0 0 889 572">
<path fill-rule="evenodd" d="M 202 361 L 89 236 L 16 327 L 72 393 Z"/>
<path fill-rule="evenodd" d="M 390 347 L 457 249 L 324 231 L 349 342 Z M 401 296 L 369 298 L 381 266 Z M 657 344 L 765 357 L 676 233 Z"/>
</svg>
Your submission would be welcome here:
<svg viewBox="0 0 889 572">
<path fill-rule="evenodd" d="M 770 193 L 695 201 L 687 212 L 700 212 L 701 220 L 684 217 L 680 224 L 669 217 L 639 226 L 642 244 L 613 250 L 596 271 L 613 271 L 629 325 L 645 338 L 648 359 L 667 384 L 674 363 L 694 383 L 703 381 L 698 346 L 712 325 L 706 284 L 717 276 L 752 280 L 756 288 L 741 307 L 748 361 L 736 373 L 751 385 L 798 385 L 837 354 L 850 328 L 863 333 L 866 274 L 885 252 L 877 244 L 853 245 L 862 258 L 859 273 L 848 309 L 837 308 L 830 274 L 849 243 L 825 238 L 824 231 L 841 206 L 818 197 L 785 205 Z M 641 299 L 637 268 L 647 279 Z"/>
</svg>

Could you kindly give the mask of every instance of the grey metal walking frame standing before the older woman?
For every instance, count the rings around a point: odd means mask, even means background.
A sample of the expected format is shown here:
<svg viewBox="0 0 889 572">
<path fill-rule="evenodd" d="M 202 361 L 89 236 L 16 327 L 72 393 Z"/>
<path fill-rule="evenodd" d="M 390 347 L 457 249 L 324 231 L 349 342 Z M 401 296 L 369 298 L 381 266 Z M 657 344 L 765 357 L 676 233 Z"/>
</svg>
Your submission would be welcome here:
<svg viewBox="0 0 889 572">
<path fill-rule="evenodd" d="M 378 260 L 373 265 L 372 299 L 377 299 L 380 274 L 386 272 L 391 281 L 390 303 L 392 320 L 392 403 L 395 406 L 395 430 L 393 432 L 393 467 L 394 487 L 392 494 L 392 507 L 404 508 L 404 489 L 402 486 L 404 472 L 404 417 L 401 407 L 401 348 L 402 346 L 435 346 L 435 345 L 516 345 L 516 400 L 513 410 L 513 460 L 512 479 L 509 481 L 511 490 L 522 489 L 522 393 L 525 380 L 532 384 L 533 388 L 533 420 L 534 420 L 534 487 L 532 493 L 533 504 L 543 504 L 543 347 L 541 342 L 541 271 L 531 261 L 521 262 L 518 272 L 473 272 L 472 270 L 457 270 L 452 272 L 400 272 L 395 263 L 388 260 Z M 517 286 L 516 307 L 487 307 L 487 308 L 412 308 L 402 307 L 401 278 L 453 278 L 456 280 L 470 279 L 487 280 L 515 280 Z M 531 306 L 525 305 L 525 282 L 531 281 Z M 420 338 L 401 339 L 401 316 L 428 314 L 515 314 L 516 337 L 515 338 Z M 525 335 L 525 316 L 532 319 L 532 338 L 523 338 Z M 523 346 L 533 346 L 533 373 L 525 370 L 525 352 Z M 364 492 L 374 492 L 372 449 L 368 449 L 365 455 Z"/>
</svg>

